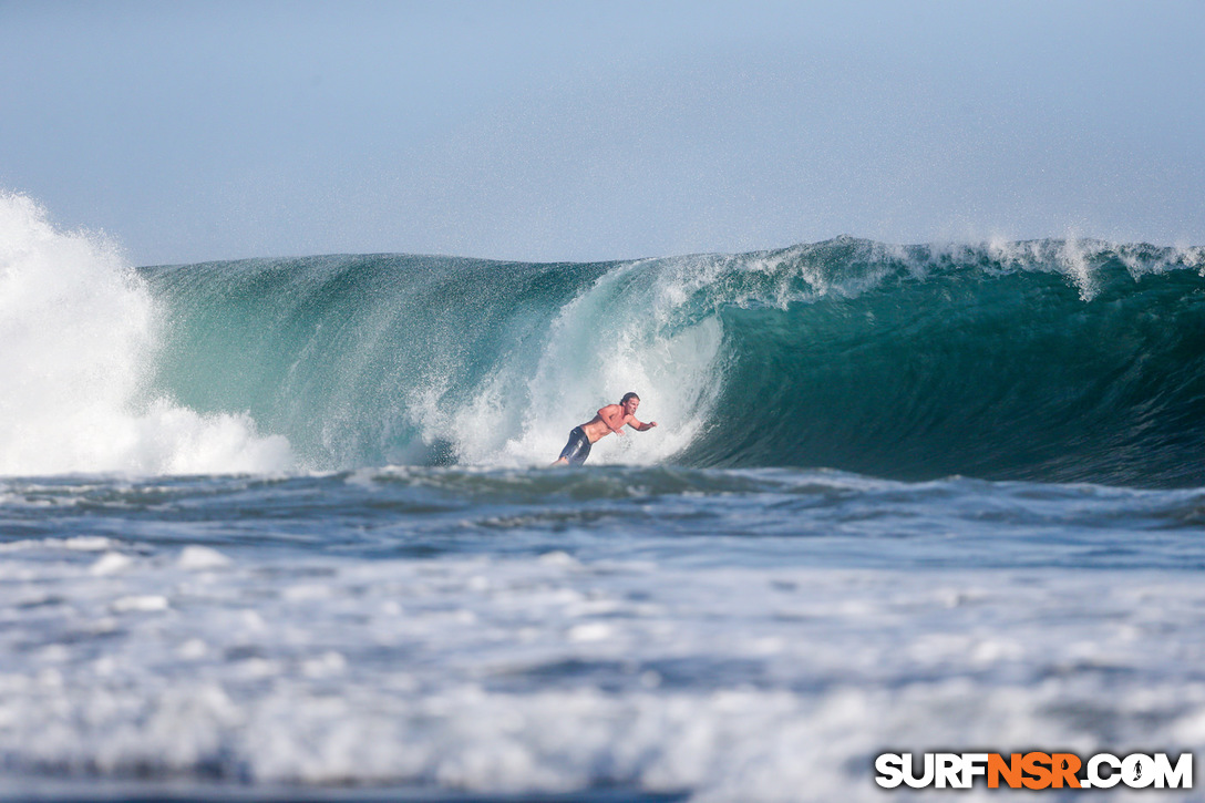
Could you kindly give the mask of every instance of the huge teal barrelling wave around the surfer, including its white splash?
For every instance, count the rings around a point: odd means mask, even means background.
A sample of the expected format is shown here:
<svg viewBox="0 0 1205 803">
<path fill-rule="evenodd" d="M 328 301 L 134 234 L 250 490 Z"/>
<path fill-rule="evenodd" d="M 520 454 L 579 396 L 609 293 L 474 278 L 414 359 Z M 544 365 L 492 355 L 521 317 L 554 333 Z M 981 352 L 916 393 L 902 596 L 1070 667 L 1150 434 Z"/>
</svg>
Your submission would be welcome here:
<svg viewBox="0 0 1205 803">
<path fill-rule="evenodd" d="M 55 394 L 52 376 L 7 393 L 24 446 L 4 445 L 2 473 L 543 464 L 636 391 L 659 427 L 604 439 L 592 463 L 1205 485 L 1205 248 L 839 238 L 593 264 L 359 254 L 130 271 L 87 235 L 43 234 L 0 263 L 18 333 L 2 370 L 29 380 L 12 364 L 53 352 L 80 389 Z M 64 242 L 82 253 L 46 258 Z M 75 287 L 80 263 L 111 293 L 77 288 L 57 324 L 69 335 L 10 298 L 14 276 Z M 76 405 L 93 395 L 106 402 L 89 420 Z M 67 453 L 104 441 L 106 421 L 136 424 L 141 446 Z"/>
</svg>

